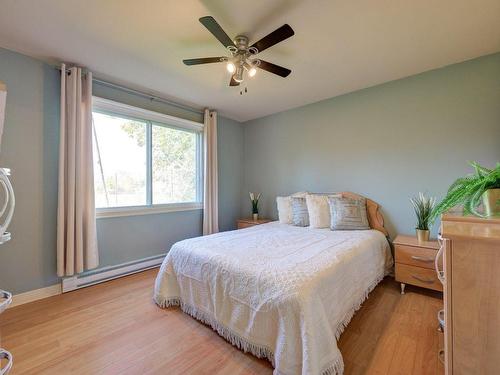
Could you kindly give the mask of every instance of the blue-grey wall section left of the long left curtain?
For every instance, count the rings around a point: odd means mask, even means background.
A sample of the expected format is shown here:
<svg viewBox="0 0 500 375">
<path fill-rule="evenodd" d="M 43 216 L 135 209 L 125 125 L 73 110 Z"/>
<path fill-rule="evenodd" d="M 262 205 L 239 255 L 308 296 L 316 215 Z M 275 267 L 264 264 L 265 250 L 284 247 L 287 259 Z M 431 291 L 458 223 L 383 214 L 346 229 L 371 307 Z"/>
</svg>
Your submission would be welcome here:
<svg viewBox="0 0 500 375">
<path fill-rule="evenodd" d="M 0 80 L 8 89 L 0 166 L 11 168 L 16 193 L 13 237 L 0 246 L 0 288 L 14 293 L 58 280 L 58 77 L 48 65 L 0 49 Z"/>
</svg>

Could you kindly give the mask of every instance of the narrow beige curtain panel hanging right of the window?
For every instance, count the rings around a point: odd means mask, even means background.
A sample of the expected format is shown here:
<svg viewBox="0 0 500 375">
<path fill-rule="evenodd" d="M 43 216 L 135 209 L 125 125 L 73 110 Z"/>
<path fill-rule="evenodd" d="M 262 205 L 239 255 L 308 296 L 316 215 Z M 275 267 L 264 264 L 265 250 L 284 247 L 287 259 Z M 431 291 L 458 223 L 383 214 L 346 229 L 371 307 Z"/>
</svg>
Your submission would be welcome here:
<svg viewBox="0 0 500 375">
<path fill-rule="evenodd" d="M 204 185 L 203 235 L 219 231 L 219 189 L 217 173 L 217 112 L 205 109 L 203 128 Z"/>
</svg>

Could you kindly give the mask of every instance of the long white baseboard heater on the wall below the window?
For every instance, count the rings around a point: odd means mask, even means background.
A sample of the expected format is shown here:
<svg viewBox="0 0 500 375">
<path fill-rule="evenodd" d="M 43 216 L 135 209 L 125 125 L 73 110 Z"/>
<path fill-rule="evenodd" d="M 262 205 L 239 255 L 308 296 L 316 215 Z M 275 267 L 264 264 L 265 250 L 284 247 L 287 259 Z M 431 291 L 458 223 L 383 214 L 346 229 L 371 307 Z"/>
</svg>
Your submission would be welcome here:
<svg viewBox="0 0 500 375">
<path fill-rule="evenodd" d="M 155 255 L 149 258 L 117 264 L 116 266 L 99 268 L 76 276 L 65 277 L 62 279 L 62 292 L 71 292 L 75 289 L 85 288 L 87 286 L 158 267 L 164 258 L 165 254 Z"/>
</svg>

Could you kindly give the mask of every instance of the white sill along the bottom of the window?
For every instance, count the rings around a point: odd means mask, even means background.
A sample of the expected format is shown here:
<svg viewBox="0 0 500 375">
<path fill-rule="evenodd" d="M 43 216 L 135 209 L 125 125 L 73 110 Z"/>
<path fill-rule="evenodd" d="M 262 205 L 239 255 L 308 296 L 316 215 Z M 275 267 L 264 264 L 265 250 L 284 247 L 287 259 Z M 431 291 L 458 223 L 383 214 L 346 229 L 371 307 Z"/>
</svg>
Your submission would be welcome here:
<svg viewBox="0 0 500 375">
<path fill-rule="evenodd" d="M 153 206 L 97 208 L 96 218 L 105 219 L 110 217 L 122 217 L 122 216 L 154 215 L 154 214 L 163 214 L 168 212 L 195 211 L 202 209 L 203 209 L 203 203 L 200 202 L 158 204 Z"/>
</svg>

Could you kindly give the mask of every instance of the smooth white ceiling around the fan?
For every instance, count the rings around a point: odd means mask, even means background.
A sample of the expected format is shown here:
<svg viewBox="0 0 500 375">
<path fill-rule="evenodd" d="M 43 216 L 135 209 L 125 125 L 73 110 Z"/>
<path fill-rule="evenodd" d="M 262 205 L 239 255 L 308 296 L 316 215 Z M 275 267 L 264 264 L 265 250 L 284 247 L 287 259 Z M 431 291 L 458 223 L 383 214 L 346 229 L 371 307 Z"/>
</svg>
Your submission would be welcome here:
<svg viewBox="0 0 500 375">
<path fill-rule="evenodd" d="M 260 57 L 248 93 L 228 87 L 213 16 L 251 41 L 290 24 L 295 36 Z M 246 121 L 500 51 L 499 0 L 0 0 L 0 46 Z"/>
</svg>

